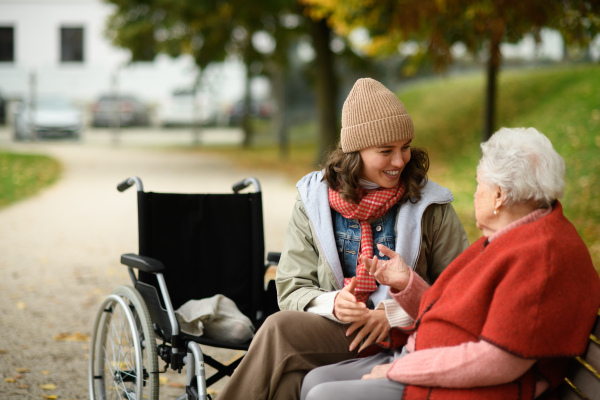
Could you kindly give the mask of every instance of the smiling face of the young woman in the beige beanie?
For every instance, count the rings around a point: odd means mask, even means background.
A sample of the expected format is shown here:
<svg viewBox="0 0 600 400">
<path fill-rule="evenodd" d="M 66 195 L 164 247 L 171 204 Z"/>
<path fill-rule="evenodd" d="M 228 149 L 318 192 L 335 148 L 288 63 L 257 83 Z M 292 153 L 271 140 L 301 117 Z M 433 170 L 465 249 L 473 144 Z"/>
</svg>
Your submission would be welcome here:
<svg viewBox="0 0 600 400">
<path fill-rule="evenodd" d="M 360 177 L 384 188 L 395 187 L 410 161 L 411 142 L 412 139 L 397 140 L 360 150 L 363 164 Z"/>
</svg>

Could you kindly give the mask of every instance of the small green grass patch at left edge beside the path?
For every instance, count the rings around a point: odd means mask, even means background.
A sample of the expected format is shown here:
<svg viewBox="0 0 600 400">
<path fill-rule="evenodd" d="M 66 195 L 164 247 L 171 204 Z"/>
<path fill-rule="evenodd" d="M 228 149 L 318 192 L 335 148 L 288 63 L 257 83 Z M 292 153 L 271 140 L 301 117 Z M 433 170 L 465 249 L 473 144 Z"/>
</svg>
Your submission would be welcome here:
<svg viewBox="0 0 600 400">
<path fill-rule="evenodd" d="M 47 156 L 0 151 L 0 208 L 52 184 L 61 170 L 60 163 Z"/>
</svg>

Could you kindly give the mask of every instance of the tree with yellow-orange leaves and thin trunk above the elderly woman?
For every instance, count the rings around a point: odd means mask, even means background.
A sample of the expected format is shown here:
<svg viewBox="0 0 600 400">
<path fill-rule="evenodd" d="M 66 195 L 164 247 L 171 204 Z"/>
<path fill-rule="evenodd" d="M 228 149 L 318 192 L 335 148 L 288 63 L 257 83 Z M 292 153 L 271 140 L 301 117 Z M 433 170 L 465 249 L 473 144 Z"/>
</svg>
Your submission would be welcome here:
<svg viewBox="0 0 600 400">
<path fill-rule="evenodd" d="M 558 29 L 567 43 L 586 46 L 600 31 L 600 2 L 593 0 L 300 0 L 327 20 L 340 35 L 366 28 L 365 52 L 389 55 L 407 41 L 419 46 L 437 70 L 453 61 L 452 46 L 462 43 L 485 59 L 486 107 L 482 140 L 494 132 L 500 44 L 527 34 L 540 40 L 543 27 Z"/>
</svg>

